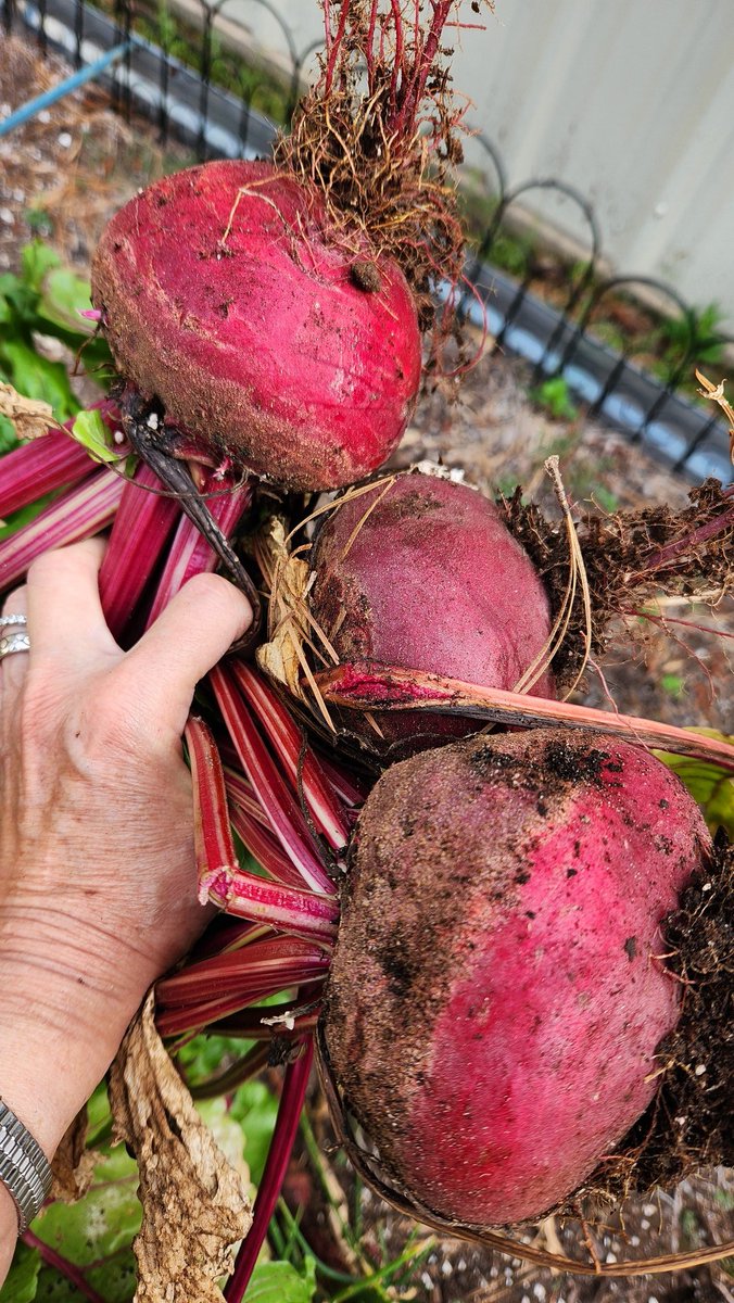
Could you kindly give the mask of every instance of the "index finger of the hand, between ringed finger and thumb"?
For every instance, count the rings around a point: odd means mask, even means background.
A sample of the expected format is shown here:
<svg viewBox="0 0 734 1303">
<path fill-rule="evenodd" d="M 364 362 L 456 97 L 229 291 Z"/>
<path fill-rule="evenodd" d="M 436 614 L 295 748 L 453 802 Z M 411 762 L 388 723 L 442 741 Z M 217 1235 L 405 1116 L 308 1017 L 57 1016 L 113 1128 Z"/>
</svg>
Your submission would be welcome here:
<svg viewBox="0 0 734 1303">
<path fill-rule="evenodd" d="M 121 657 L 99 601 L 104 542 L 89 538 L 38 556 L 27 573 L 30 665 L 64 671 Z"/>
</svg>

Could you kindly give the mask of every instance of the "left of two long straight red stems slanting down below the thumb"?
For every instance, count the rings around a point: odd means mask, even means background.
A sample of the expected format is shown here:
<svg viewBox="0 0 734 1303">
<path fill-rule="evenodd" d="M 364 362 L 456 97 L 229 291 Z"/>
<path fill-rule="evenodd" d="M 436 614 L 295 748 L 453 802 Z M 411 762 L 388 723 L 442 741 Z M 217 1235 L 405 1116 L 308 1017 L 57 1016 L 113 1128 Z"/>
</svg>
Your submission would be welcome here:
<svg viewBox="0 0 734 1303">
<path fill-rule="evenodd" d="M 220 662 L 209 675 L 209 681 L 240 762 L 286 855 L 312 891 L 330 895 L 334 887 L 317 855 L 306 821 L 237 692 L 231 668 Z"/>
</svg>

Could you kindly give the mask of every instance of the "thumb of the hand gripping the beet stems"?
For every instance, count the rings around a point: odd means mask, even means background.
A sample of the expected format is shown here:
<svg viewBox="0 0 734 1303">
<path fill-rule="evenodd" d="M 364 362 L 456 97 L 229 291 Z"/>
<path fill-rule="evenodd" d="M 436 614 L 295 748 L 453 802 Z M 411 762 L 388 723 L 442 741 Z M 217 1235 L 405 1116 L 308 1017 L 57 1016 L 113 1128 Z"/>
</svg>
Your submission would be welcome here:
<svg viewBox="0 0 734 1303">
<path fill-rule="evenodd" d="M 115 671 L 117 691 L 153 731 L 184 731 L 194 688 L 252 624 L 252 607 L 228 580 L 197 575 Z"/>
</svg>

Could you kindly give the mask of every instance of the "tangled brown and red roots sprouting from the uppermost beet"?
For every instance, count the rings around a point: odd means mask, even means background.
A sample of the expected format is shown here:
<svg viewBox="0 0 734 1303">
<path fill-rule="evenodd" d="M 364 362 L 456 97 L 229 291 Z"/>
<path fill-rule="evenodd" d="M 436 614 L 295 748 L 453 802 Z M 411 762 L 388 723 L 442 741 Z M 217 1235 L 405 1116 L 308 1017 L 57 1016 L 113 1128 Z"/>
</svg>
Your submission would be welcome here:
<svg viewBox="0 0 734 1303">
<path fill-rule="evenodd" d="M 478 13 L 484 4 L 493 7 L 473 0 L 471 9 Z M 464 108 L 452 102 L 452 51 L 441 43 L 445 29 L 469 26 L 459 22 L 460 7 L 462 0 L 323 0 L 321 76 L 275 151 L 276 164 L 322 192 L 347 238 L 356 224 L 375 255 L 400 265 L 421 330 L 433 330 L 433 369 L 456 335 L 454 298 L 464 261 L 452 184 L 463 159 Z M 443 308 L 432 296 L 437 280 L 452 287 Z"/>
</svg>

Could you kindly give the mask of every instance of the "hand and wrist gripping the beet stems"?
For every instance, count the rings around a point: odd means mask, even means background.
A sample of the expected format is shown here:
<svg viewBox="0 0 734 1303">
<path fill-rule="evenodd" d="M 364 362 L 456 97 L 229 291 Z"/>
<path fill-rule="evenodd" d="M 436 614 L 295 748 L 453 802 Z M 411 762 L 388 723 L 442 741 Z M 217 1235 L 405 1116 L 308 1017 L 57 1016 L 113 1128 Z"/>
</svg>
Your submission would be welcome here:
<svg viewBox="0 0 734 1303">
<path fill-rule="evenodd" d="M 31 566 L 0 662 L 0 1096 L 52 1152 L 149 985 L 207 921 L 181 732 L 196 683 L 249 625 L 227 580 L 189 581 L 128 653 L 99 541 Z"/>
</svg>

